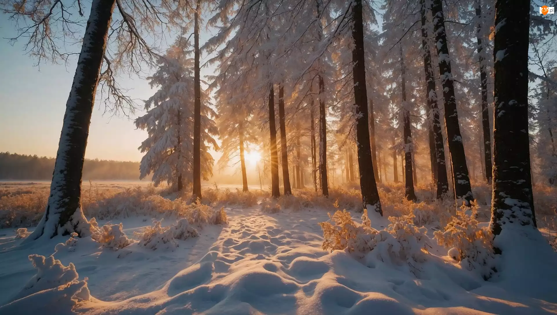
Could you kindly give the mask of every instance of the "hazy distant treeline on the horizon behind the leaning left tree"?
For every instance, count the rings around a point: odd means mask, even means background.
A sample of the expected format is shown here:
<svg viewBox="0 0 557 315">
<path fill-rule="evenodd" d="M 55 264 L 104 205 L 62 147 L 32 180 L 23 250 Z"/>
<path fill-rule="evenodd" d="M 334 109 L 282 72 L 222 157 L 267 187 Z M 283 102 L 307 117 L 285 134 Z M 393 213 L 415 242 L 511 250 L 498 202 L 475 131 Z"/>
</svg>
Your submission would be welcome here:
<svg viewBox="0 0 557 315">
<path fill-rule="evenodd" d="M 0 180 L 51 180 L 54 160 L 0 152 Z M 85 159 L 83 180 L 139 180 L 139 162 Z"/>
</svg>

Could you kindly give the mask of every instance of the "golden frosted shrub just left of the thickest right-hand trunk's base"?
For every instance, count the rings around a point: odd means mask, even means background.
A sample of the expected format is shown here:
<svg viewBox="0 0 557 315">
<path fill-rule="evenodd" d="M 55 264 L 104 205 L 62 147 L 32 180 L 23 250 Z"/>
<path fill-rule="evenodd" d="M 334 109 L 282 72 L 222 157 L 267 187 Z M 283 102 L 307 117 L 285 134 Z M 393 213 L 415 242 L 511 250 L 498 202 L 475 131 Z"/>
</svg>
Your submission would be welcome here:
<svg viewBox="0 0 557 315">
<path fill-rule="evenodd" d="M 490 273 L 493 235 L 488 229 L 478 228 L 477 220 L 466 214 L 465 209 L 458 210 L 443 231 L 434 233 L 434 238 L 439 245 L 454 248 L 449 255 L 466 269 L 480 269 L 484 276 Z"/>
</svg>

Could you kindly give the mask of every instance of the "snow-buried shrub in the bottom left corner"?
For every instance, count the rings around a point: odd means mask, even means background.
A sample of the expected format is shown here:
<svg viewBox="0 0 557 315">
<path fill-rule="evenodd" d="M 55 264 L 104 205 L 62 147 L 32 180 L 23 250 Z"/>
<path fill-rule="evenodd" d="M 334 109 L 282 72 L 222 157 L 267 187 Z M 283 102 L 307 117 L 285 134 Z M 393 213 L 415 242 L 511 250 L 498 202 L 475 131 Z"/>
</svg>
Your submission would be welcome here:
<svg viewBox="0 0 557 315">
<path fill-rule="evenodd" d="M 79 275 L 74 264 L 70 263 L 66 267 L 60 260 L 55 260 L 52 255 L 46 258 L 41 255 L 29 255 L 29 260 L 37 269 L 37 274 L 33 275 L 12 301 L 45 290 L 59 291 L 60 299 L 71 299 L 76 302 L 90 299 L 87 278 L 78 280 Z M 68 291 L 72 294 L 68 295 Z"/>
</svg>

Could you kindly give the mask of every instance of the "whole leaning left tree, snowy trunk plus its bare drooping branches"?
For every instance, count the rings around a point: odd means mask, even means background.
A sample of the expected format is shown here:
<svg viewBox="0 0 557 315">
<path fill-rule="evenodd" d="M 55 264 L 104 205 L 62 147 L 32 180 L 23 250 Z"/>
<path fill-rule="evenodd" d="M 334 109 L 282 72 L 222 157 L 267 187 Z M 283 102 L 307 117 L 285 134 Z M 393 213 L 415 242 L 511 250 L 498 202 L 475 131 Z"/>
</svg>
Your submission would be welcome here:
<svg viewBox="0 0 557 315">
<path fill-rule="evenodd" d="M 115 5 L 118 14 L 113 14 Z M 85 148 L 97 86 L 100 83 L 100 99 L 109 110 L 118 112 L 126 107 L 133 109 L 133 100 L 123 94 L 115 81 L 115 71 L 128 68 L 136 72 L 140 71 L 142 63 L 151 65 L 157 56 L 156 46 L 149 45 L 144 36 L 151 33 L 153 38 L 150 42 L 157 42 L 152 30 L 180 24 L 180 12 L 184 5 L 185 0 L 162 0 L 157 6 L 127 0 L 92 1 L 66 102 L 45 214 L 26 242 L 42 235 L 51 238 L 57 234 L 76 232 L 84 236 L 90 233 L 89 224 L 81 210 L 80 198 Z M 74 19 L 68 11 L 74 9 L 79 17 L 84 17 L 84 8 L 79 1 L 8 0 L 2 6 L 4 13 L 16 21 L 16 25 L 21 19 L 24 20 L 25 26 L 17 29 L 18 35 L 11 41 L 26 38 L 27 51 L 37 57 L 39 63 L 45 59 L 67 60 L 72 54 L 63 49 L 66 40 L 81 40 L 79 34 L 82 21 Z M 140 24 L 135 22 L 138 16 L 141 16 Z M 110 42 L 108 47 L 107 42 Z"/>
</svg>

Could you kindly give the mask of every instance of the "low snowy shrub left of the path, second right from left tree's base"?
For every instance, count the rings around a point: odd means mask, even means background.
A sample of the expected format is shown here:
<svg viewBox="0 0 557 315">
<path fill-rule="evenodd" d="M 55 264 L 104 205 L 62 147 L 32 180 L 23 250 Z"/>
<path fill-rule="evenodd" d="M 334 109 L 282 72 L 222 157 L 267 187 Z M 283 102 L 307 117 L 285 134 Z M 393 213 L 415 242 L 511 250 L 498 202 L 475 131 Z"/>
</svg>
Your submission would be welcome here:
<svg viewBox="0 0 557 315">
<path fill-rule="evenodd" d="M 160 221 L 155 220 L 153 221 L 153 226 L 146 227 L 143 233 L 137 234 L 140 238 L 139 244 L 153 250 L 174 249 L 178 247 L 177 239 L 184 240 L 199 236 L 197 230 L 185 218 L 178 220 L 176 224 L 170 227 L 163 227 Z"/>
</svg>

